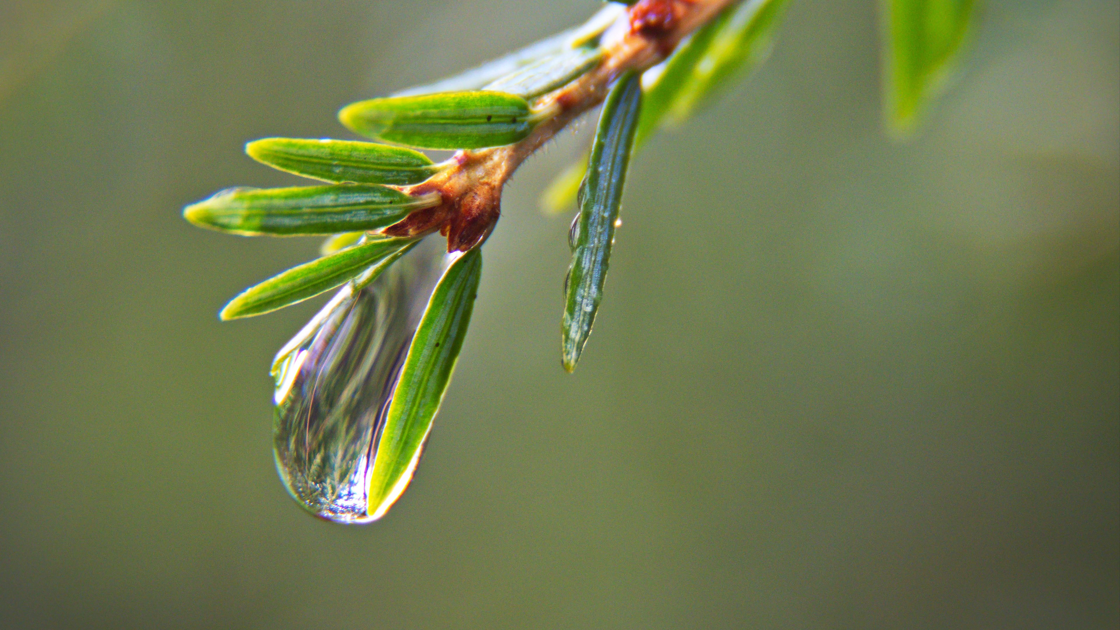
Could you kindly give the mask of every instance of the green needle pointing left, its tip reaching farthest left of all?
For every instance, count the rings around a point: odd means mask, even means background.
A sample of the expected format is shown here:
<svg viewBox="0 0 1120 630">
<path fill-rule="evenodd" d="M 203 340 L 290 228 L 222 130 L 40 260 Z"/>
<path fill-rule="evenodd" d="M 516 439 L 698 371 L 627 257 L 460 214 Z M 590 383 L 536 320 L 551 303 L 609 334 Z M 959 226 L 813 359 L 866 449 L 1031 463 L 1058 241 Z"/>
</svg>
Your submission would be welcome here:
<svg viewBox="0 0 1120 630">
<path fill-rule="evenodd" d="M 288 237 L 380 230 L 438 204 L 435 193 L 412 197 L 367 184 L 231 188 L 188 205 L 183 216 L 199 228 L 232 234 Z"/>
</svg>

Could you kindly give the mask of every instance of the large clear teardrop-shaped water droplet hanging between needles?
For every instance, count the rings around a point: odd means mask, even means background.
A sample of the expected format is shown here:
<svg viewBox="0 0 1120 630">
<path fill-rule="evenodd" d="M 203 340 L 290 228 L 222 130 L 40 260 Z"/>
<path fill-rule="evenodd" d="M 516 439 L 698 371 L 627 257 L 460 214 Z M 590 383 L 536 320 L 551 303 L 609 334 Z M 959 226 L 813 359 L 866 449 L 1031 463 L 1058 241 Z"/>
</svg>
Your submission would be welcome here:
<svg viewBox="0 0 1120 630">
<path fill-rule="evenodd" d="M 277 354 L 277 469 L 311 513 L 373 520 L 379 432 L 428 298 L 455 259 L 428 239 L 356 295 L 343 287 Z"/>
</svg>

